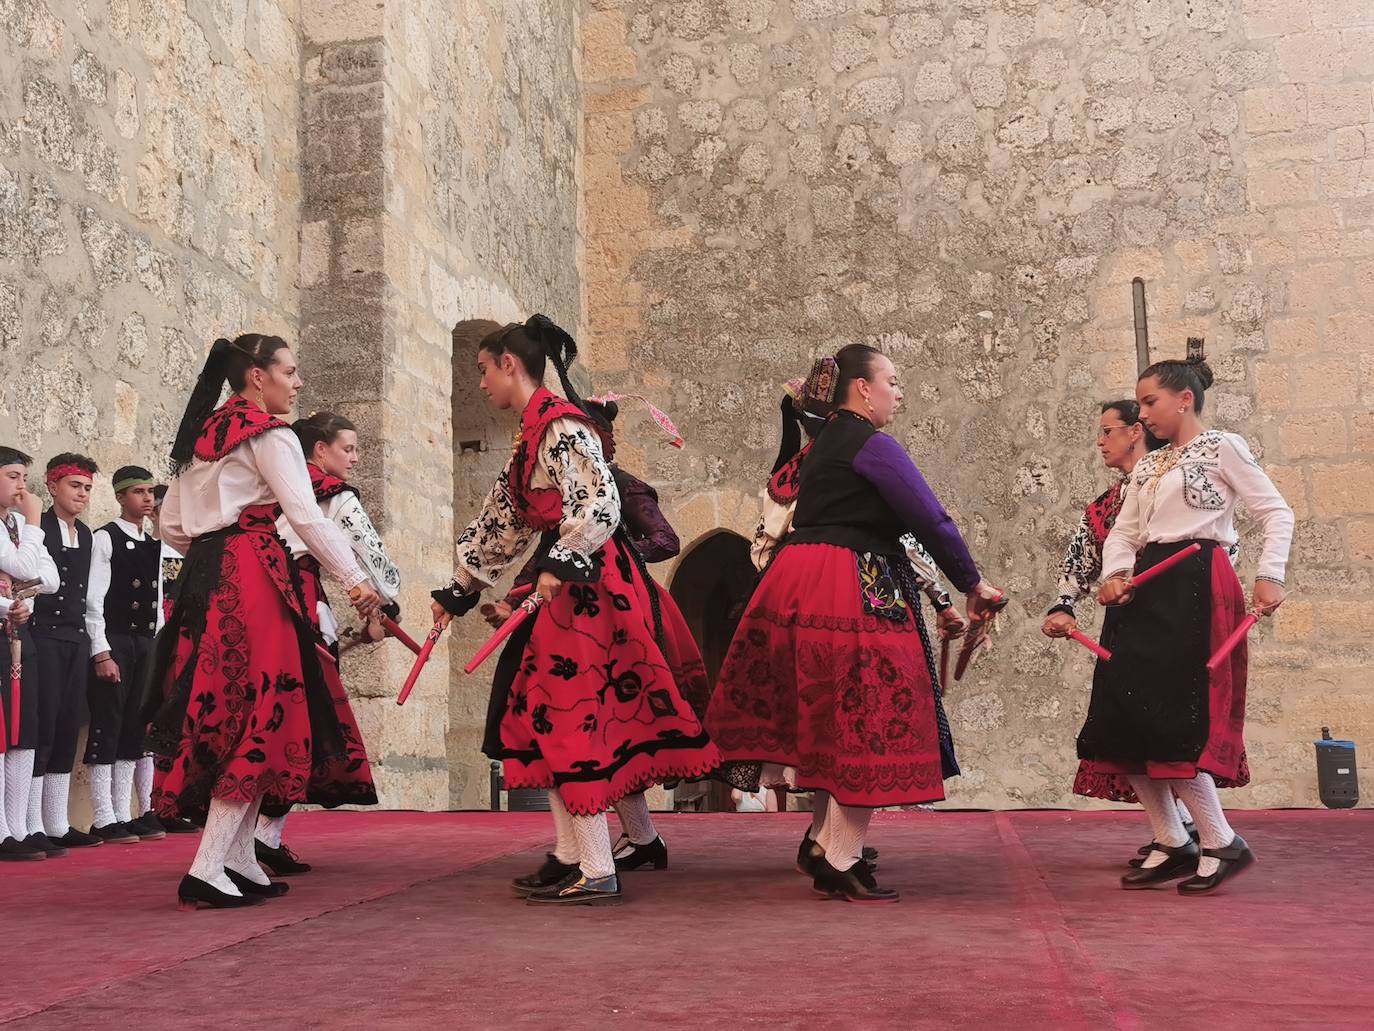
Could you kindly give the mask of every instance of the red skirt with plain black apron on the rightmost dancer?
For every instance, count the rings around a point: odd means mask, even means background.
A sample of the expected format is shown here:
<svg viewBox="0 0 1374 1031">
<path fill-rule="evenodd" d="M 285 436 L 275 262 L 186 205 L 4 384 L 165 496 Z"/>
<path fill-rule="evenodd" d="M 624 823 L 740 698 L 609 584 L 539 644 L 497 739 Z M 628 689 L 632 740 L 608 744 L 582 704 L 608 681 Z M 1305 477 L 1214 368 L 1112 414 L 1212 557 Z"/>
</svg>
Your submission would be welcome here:
<svg viewBox="0 0 1374 1031">
<path fill-rule="evenodd" d="M 1149 544 L 1136 572 L 1187 547 Z M 1140 587 L 1129 605 L 1107 609 L 1092 700 L 1079 733 L 1074 792 L 1132 801 L 1128 774 L 1189 779 L 1200 771 L 1219 786 L 1249 782 L 1245 759 L 1245 642 L 1209 674 L 1206 660 L 1245 619 L 1245 592 L 1226 548 L 1202 551 Z"/>
</svg>

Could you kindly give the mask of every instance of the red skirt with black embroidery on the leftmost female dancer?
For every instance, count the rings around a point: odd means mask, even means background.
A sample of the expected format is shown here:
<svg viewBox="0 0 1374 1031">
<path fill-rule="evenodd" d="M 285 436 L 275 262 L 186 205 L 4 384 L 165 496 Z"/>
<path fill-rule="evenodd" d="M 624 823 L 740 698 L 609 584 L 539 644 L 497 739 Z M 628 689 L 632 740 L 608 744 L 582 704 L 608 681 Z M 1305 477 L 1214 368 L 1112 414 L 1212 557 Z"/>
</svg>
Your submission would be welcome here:
<svg viewBox="0 0 1374 1031">
<path fill-rule="evenodd" d="M 275 521 L 275 506 L 247 509 L 185 557 L 150 691 L 161 815 L 199 815 L 212 799 L 278 811 L 376 801 L 365 763 L 349 760 L 313 610 Z"/>
</svg>

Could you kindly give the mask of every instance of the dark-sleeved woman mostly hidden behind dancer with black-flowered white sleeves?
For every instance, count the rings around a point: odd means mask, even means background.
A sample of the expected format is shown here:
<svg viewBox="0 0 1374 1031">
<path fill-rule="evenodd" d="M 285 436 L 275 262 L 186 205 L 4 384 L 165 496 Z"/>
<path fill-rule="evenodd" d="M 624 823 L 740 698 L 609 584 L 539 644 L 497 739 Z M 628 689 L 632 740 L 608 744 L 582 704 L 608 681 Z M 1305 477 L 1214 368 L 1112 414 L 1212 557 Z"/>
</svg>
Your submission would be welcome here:
<svg viewBox="0 0 1374 1031">
<path fill-rule="evenodd" d="M 613 423 L 620 414 L 614 401 L 585 401 L 587 414 L 592 417 L 600 433 L 605 452 L 614 455 L 616 439 Z M 609 461 L 607 466 L 616 480 L 616 492 L 620 495 L 620 525 L 625 532 L 627 543 L 639 553 L 644 562 L 666 562 L 679 551 L 677 533 L 672 524 L 658 507 L 658 492 L 640 480 Z M 539 579 L 539 559 L 536 551 L 519 570 L 510 594 L 493 605 L 484 605 L 481 612 L 484 619 L 500 627 L 511 612 L 523 601 Z M 646 573 L 647 575 L 647 573 Z M 651 579 L 651 577 L 650 577 Z M 662 649 L 672 671 L 673 682 L 682 691 L 687 704 L 698 719 L 706 715 L 706 704 L 710 701 L 710 685 L 706 680 L 706 667 L 701 660 L 701 652 L 692 639 L 687 620 L 673 597 L 665 591 L 657 580 L 653 580 L 654 592 L 658 595 L 658 606 L 662 621 Z M 499 713 L 493 713 L 499 715 Z M 492 727 L 493 741 L 499 727 Z M 611 845 L 616 856 L 616 870 L 638 870 L 649 867 L 664 870 L 668 867 L 668 844 L 664 841 L 654 818 L 649 811 L 649 800 L 644 792 L 632 792 L 616 803 L 616 815 L 620 818 L 621 833 Z M 554 856 L 558 859 L 558 856 Z M 563 866 L 576 869 L 577 863 L 563 856 Z"/>
</svg>

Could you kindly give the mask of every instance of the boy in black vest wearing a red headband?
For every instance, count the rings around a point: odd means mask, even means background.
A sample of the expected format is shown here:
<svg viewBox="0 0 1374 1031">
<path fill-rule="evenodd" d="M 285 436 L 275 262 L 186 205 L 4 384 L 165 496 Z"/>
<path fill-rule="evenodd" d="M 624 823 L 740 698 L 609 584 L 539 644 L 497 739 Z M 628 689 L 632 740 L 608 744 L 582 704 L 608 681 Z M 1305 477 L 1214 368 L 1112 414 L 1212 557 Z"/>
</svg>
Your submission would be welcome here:
<svg viewBox="0 0 1374 1031">
<path fill-rule="evenodd" d="M 41 522 L 43 543 L 52 555 L 60 583 L 56 594 L 36 598 L 33 606 L 33 643 L 38 652 L 38 745 L 33 760 L 29 829 L 34 829 L 37 817 L 43 839 L 59 848 L 100 844 L 99 837 L 77 830 L 67 821 L 81 701 L 91 676 L 91 642 L 85 628 L 91 531 L 77 517 L 91 502 L 98 472 L 95 461 L 85 455 L 54 456 L 47 472 L 52 507 L 43 513 Z"/>
</svg>

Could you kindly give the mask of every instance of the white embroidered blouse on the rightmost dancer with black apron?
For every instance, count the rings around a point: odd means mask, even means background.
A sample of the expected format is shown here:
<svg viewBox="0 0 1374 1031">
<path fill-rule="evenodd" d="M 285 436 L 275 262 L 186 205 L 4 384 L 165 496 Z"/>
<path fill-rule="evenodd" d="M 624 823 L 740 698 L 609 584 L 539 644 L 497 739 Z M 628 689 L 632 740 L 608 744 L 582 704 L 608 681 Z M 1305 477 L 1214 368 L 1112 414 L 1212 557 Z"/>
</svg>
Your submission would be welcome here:
<svg viewBox="0 0 1374 1031">
<path fill-rule="evenodd" d="M 1293 510 L 1245 439 L 1220 430 L 1204 430 L 1182 448 L 1150 451 L 1136 462 L 1121 514 L 1102 546 L 1102 568 L 1109 577 L 1129 573 L 1136 553 L 1153 543 L 1215 540 L 1231 548 L 1239 540 L 1237 503 L 1264 528 L 1259 579 L 1282 584 Z"/>
</svg>

